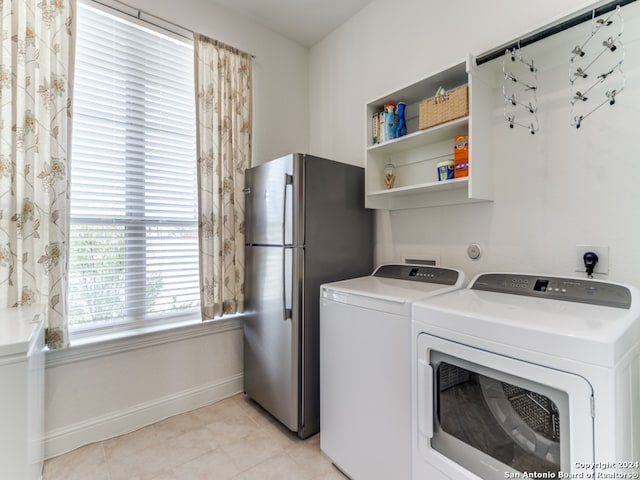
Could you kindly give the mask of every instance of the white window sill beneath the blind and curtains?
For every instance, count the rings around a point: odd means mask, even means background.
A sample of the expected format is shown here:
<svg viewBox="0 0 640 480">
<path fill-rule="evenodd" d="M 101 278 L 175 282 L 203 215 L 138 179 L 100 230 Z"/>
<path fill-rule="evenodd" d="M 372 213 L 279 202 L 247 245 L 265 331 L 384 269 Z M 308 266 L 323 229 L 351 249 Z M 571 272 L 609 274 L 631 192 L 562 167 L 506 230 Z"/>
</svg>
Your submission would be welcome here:
<svg viewBox="0 0 640 480">
<path fill-rule="evenodd" d="M 140 348 L 238 330 L 242 328 L 242 322 L 243 315 L 237 314 L 205 322 L 197 319 L 83 337 L 74 340 L 69 348 L 48 350 L 46 352 L 46 366 L 47 368 L 58 367 Z"/>
</svg>

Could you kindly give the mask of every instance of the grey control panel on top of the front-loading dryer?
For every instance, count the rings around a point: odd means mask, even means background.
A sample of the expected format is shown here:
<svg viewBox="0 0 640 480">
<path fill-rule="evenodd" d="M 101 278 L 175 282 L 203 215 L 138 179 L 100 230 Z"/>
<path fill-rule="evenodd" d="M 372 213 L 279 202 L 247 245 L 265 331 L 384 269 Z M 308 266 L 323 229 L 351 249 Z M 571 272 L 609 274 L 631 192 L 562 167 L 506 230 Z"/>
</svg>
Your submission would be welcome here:
<svg viewBox="0 0 640 480">
<path fill-rule="evenodd" d="M 469 288 L 591 305 L 631 308 L 631 292 L 627 287 L 580 278 L 485 273 L 476 277 Z"/>
</svg>

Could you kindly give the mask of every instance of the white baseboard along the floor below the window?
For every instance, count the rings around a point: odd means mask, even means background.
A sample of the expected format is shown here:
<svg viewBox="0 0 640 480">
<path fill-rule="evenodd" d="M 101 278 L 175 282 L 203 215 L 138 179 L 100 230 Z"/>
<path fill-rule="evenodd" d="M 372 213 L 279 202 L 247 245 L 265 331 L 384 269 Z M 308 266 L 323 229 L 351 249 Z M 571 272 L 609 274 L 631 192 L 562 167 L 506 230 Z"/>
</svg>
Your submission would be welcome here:
<svg viewBox="0 0 640 480">
<path fill-rule="evenodd" d="M 99 442 L 214 403 L 243 391 L 243 375 L 178 392 L 45 433 L 45 458 Z"/>
</svg>

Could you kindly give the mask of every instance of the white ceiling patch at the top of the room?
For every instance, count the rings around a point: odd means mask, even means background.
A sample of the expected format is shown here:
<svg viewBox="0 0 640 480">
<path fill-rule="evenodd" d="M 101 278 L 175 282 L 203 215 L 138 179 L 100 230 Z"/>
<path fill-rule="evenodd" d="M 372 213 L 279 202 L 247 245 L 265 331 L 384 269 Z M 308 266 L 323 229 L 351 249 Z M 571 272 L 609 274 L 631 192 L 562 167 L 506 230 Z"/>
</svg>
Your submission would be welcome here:
<svg viewBox="0 0 640 480">
<path fill-rule="evenodd" d="M 211 0 L 311 47 L 372 0 Z"/>
</svg>

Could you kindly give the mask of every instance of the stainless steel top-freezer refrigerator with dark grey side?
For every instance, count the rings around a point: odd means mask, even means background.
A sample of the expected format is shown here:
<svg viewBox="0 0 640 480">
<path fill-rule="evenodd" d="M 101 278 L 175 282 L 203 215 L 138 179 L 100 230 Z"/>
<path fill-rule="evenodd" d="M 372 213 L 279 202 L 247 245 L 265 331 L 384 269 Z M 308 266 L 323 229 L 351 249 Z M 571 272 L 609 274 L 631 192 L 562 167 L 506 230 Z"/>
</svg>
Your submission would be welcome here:
<svg viewBox="0 0 640 480">
<path fill-rule="evenodd" d="M 294 153 L 246 172 L 245 393 L 300 438 L 320 430 L 320 285 L 370 275 L 364 170 Z"/>
</svg>

